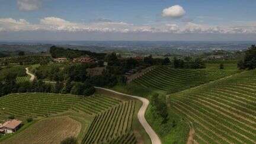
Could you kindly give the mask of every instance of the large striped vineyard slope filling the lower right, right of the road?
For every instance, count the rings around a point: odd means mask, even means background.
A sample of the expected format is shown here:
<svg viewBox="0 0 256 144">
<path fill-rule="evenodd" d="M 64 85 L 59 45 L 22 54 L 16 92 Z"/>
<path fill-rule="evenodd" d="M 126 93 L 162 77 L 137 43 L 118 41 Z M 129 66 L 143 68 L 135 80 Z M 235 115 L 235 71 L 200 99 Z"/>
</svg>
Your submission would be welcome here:
<svg viewBox="0 0 256 144">
<path fill-rule="evenodd" d="M 198 143 L 256 143 L 256 71 L 170 95 Z"/>
</svg>

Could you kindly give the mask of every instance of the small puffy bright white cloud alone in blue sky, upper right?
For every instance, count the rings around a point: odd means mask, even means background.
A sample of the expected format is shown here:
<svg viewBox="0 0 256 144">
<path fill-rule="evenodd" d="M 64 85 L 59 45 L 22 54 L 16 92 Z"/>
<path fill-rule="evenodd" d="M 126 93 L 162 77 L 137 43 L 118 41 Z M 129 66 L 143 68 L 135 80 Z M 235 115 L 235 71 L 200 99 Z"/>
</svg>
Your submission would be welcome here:
<svg viewBox="0 0 256 144">
<path fill-rule="evenodd" d="M 185 15 L 185 10 L 180 5 L 174 5 L 162 10 L 162 17 L 180 18 Z"/>
</svg>

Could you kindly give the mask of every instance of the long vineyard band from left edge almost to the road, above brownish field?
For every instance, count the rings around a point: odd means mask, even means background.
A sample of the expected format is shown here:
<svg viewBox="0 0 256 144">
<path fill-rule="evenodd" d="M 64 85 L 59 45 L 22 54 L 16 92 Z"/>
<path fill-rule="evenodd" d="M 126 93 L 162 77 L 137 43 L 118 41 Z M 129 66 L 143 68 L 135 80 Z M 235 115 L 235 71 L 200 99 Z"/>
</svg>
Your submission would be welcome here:
<svg viewBox="0 0 256 144">
<path fill-rule="evenodd" d="M 72 108 L 88 114 L 107 110 L 120 100 L 104 95 L 81 98 L 75 95 L 23 93 L 0 98 L 0 112 L 15 117 L 39 117 L 61 113 Z"/>
</svg>

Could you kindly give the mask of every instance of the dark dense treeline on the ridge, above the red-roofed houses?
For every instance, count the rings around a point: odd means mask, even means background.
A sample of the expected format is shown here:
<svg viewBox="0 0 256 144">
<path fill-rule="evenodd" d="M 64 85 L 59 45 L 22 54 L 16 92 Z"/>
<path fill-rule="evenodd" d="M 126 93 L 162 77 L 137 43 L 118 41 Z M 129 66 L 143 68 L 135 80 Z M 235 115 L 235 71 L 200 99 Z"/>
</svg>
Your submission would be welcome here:
<svg viewBox="0 0 256 144">
<path fill-rule="evenodd" d="M 69 59 L 73 59 L 75 57 L 80 57 L 85 55 L 88 55 L 97 59 L 104 59 L 105 57 L 105 53 L 93 53 L 87 50 L 64 49 L 62 47 L 56 47 L 56 46 L 50 47 L 50 54 L 52 55 L 53 58 L 67 57 Z"/>
</svg>

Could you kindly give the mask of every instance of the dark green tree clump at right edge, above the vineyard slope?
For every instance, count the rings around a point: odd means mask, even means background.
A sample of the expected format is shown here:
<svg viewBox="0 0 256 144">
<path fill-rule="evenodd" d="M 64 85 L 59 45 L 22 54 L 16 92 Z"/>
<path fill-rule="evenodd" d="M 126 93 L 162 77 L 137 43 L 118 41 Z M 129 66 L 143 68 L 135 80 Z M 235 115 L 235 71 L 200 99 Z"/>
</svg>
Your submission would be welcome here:
<svg viewBox="0 0 256 144">
<path fill-rule="evenodd" d="M 239 69 L 255 69 L 256 68 L 256 46 L 252 45 L 245 51 L 244 59 L 238 62 Z"/>
</svg>

